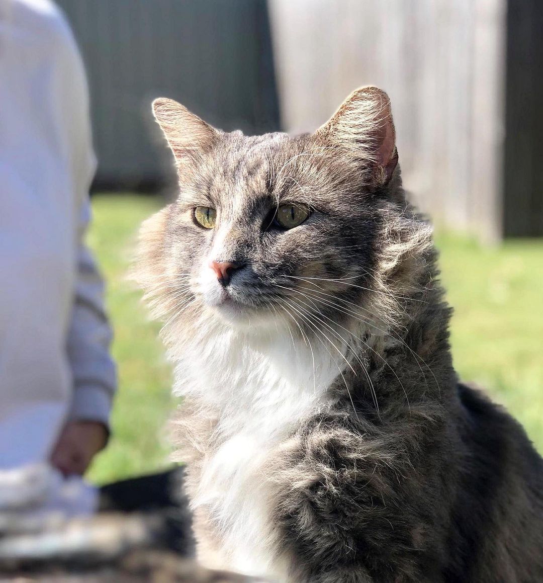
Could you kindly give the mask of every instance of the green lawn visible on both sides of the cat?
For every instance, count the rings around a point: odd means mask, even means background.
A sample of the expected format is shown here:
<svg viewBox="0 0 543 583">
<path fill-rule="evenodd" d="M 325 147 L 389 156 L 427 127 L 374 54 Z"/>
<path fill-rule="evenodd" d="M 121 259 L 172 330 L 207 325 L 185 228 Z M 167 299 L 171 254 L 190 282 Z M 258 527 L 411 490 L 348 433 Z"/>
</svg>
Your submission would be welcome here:
<svg viewBox="0 0 543 583">
<path fill-rule="evenodd" d="M 170 367 L 140 294 L 126 281 L 137 227 L 159 208 L 146 196 L 93 199 L 89 244 L 108 281 L 119 393 L 107 449 L 90 470 L 103 483 L 167 463 L 165 421 L 174 405 Z M 456 368 L 524 424 L 543 452 L 543 241 L 484 248 L 466 237 L 438 237 L 443 281 L 455 312 Z"/>
</svg>

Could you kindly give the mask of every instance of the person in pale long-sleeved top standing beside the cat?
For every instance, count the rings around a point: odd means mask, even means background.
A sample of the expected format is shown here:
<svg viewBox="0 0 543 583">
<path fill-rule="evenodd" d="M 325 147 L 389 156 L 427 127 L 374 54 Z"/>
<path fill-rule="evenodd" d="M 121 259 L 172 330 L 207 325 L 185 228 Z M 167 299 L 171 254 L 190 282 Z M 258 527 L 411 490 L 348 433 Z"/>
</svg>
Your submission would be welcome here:
<svg viewBox="0 0 543 583">
<path fill-rule="evenodd" d="M 83 243 L 95 167 L 64 15 L 0 0 L 0 515 L 62 507 L 108 439 L 111 329 Z"/>
</svg>

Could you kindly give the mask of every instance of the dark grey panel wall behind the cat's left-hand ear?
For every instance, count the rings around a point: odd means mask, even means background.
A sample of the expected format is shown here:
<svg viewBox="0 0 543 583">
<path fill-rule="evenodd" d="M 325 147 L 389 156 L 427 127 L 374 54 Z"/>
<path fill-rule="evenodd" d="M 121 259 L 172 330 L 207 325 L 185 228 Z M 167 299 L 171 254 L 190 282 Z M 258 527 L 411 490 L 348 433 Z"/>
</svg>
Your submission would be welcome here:
<svg viewBox="0 0 543 583">
<path fill-rule="evenodd" d="M 59 0 L 89 75 L 98 187 L 160 184 L 150 117 L 176 99 L 211 124 L 278 129 L 265 0 Z"/>
</svg>

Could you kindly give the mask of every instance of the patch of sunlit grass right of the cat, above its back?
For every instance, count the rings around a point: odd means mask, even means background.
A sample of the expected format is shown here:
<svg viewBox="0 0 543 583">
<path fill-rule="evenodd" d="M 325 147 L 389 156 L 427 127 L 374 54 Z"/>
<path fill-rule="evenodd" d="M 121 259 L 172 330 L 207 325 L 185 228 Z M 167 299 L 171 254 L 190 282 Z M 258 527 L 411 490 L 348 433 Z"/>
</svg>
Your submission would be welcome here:
<svg viewBox="0 0 543 583">
<path fill-rule="evenodd" d="M 437 243 L 456 370 L 505 405 L 543 453 L 543 240 Z"/>
</svg>

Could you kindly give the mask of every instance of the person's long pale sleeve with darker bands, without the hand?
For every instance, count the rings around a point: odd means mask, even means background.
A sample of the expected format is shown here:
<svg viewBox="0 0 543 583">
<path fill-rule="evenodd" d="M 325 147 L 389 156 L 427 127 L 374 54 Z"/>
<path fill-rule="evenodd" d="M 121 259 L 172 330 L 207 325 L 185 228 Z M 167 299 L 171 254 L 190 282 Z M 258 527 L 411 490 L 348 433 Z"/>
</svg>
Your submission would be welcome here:
<svg viewBox="0 0 543 583">
<path fill-rule="evenodd" d="M 71 35 L 70 35 L 71 36 Z M 96 262 L 84 244 L 90 221 L 89 187 L 96 168 L 89 115 L 89 91 L 75 41 L 68 45 L 64 79 L 64 115 L 70 120 L 73 194 L 76 198 L 76 279 L 67 350 L 73 379 L 73 419 L 108 422 L 116 388 L 115 365 L 110 356 L 111 328 L 104 309 L 104 283 Z M 70 51 L 71 49 L 71 51 Z M 68 120 L 67 120 L 68 121 Z"/>
</svg>

